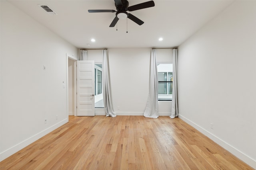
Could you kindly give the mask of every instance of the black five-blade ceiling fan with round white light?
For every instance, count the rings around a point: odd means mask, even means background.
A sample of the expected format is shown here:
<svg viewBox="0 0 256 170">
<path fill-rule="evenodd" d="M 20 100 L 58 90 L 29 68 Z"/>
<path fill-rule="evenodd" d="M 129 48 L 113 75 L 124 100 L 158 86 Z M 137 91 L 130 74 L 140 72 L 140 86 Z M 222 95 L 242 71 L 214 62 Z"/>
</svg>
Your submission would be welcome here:
<svg viewBox="0 0 256 170">
<path fill-rule="evenodd" d="M 129 2 L 127 0 L 114 0 L 116 10 L 88 10 L 88 12 L 116 12 L 116 17 L 112 21 L 112 23 L 109 25 L 109 27 L 114 27 L 119 19 L 125 19 L 129 18 L 130 20 L 134 21 L 138 25 L 142 25 L 144 22 L 140 19 L 138 19 L 136 16 L 127 13 L 126 11 L 135 11 L 140 10 L 144 8 L 150 8 L 155 6 L 154 1 L 148 1 L 141 4 L 129 6 Z"/>
</svg>

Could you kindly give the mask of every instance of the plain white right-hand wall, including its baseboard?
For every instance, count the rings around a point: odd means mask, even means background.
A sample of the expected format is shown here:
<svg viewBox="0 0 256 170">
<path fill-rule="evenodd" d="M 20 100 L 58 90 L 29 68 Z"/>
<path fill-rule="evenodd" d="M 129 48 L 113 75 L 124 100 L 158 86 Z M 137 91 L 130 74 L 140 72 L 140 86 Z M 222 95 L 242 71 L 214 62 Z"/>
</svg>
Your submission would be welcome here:
<svg viewBox="0 0 256 170">
<path fill-rule="evenodd" d="M 234 2 L 178 48 L 179 117 L 253 168 L 255 75 L 256 1 Z"/>
</svg>

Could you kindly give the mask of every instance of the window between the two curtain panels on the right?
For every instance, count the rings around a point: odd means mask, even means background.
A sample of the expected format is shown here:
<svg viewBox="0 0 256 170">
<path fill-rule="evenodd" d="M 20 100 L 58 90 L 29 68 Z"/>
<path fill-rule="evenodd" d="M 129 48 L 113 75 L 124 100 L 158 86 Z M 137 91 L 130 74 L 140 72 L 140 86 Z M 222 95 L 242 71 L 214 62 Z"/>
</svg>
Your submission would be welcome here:
<svg viewBox="0 0 256 170">
<path fill-rule="evenodd" d="M 172 100 L 172 64 L 157 64 L 158 100 Z"/>
</svg>

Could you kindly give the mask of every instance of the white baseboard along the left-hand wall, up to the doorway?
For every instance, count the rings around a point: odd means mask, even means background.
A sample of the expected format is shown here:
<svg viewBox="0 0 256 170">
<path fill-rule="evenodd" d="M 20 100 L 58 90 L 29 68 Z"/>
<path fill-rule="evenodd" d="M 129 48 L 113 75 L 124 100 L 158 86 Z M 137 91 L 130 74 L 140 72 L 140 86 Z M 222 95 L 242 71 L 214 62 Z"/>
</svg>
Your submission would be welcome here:
<svg viewBox="0 0 256 170">
<path fill-rule="evenodd" d="M 18 152 L 19 150 L 23 149 L 24 147 L 30 145 L 31 143 L 33 143 L 34 141 L 40 139 L 41 137 L 43 137 L 44 135 L 50 133 L 51 131 L 54 131 L 55 129 L 57 129 L 58 127 L 64 125 L 65 123 L 68 122 L 68 119 L 64 119 L 58 123 L 56 123 L 55 125 L 52 125 L 51 127 L 48 127 L 47 129 L 37 133 L 36 135 L 18 143 L 17 145 L 4 150 L 3 152 L 0 153 L 0 161 L 4 160 L 5 158 L 8 158 L 9 156 L 11 156 L 12 154 Z"/>
</svg>

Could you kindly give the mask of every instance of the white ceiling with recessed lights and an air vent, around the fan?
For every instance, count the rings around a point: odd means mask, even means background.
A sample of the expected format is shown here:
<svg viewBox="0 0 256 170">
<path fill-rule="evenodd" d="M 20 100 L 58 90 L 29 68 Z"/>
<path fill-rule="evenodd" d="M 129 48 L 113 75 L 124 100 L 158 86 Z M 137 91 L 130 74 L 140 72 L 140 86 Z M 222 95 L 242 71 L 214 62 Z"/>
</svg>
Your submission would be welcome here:
<svg viewBox="0 0 256 170">
<path fill-rule="evenodd" d="M 129 6 L 148 0 L 129 0 Z M 218 15 L 230 0 L 154 0 L 155 6 L 128 12 L 144 21 L 128 19 L 109 27 L 115 13 L 88 10 L 116 10 L 114 0 L 8 0 L 77 48 L 177 47 Z M 38 4 L 47 4 L 58 15 L 48 15 Z M 158 41 L 162 37 L 163 41 Z M 93 43 L 90 39 L 96 39 Z M 90 44 L 87 45 L 87 44 Z"/>
</svg>

